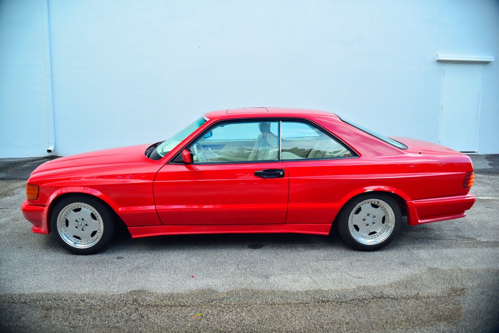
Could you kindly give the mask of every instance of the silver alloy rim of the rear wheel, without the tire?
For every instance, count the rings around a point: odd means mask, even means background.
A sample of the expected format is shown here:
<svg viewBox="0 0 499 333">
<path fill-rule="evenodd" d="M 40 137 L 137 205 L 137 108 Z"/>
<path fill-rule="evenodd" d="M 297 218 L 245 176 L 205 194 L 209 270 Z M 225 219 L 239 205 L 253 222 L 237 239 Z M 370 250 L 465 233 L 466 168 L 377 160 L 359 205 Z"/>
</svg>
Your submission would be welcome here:
<svg viewBox="0 0 499 333">
<path fill-rule="evenodd" d="M 348 217 L 350 235 L 364 245 L 376 245 L 385 241 L 395 227 L 392 207 L 380 199 L 359 202 Z"/>
</svg>

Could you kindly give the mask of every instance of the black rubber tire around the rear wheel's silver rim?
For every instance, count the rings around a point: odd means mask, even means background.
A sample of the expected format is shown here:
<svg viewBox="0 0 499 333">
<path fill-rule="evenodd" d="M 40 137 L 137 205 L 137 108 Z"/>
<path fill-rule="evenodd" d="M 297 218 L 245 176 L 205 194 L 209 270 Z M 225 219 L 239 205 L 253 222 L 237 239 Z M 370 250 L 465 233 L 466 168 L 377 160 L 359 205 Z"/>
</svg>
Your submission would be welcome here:
<svg viewBox="0 0 499 333">
<path fill-rule="evenodd" d="M 393 227 L 391 234 L 384 241 L 375 245 L 366 245 L 360 243 L 352 236 L 348 226 L 348 219 L 350 217 L 350 213 L 355 208 L 355 206 L 357 206 L 357 204 L 359 204 L 360 202 L 369 199 L 378 199 L 385 201 L 388 205 L 390 205 L 395 215 L 395 225 Z M 390 195 L 383 193 L 370 194 L 369 192 L 367 192 L 352 198 L 343 206 L 338 215 L 337 223 L 338 223 L 338 231 L 341 235 L 341 238 L 343 238 L 343 240 L 345 241 L 345 243 L 348 244 L 348 246 L 360 251 L 374 251 L 388 245 L 397 236 L 397 234 L 400 231 L 400 226 L 402 225 L 402 213 L 400 211 L 400 207 L 397 201 Z"/>
</svg>

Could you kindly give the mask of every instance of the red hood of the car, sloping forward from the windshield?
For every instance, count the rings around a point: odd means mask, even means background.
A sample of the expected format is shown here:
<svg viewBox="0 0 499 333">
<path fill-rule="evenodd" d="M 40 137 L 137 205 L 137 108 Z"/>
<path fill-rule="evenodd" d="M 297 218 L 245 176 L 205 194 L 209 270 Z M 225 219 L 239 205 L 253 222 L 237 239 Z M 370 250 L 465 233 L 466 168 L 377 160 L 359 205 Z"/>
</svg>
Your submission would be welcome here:
<svg viewBox="0 0 499 333">
<path fill-rule="evenodd" d="M 144 155 L 144 152 L 149 145 L 150 144 L 104 149 L 61 157 L 47 161 L 38 166 L 31 172 L 31 176 L 90 168 L 153 163 L 153 160 L 148 159 Z"/>
</svg>

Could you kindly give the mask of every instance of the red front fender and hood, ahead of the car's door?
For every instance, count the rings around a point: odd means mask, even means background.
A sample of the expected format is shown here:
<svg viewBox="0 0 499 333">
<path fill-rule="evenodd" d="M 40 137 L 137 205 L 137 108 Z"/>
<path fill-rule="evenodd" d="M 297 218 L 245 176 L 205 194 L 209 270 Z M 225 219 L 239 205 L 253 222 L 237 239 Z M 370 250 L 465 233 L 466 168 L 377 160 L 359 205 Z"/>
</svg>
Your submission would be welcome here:
<svg viewBox="0 0 499 333">
<path fill-rule="evenodd" d="M 147 146 L 101 150 L 46 162 L 28 179 L 40 186 L 38 199 L 28 203 L 50 206 L 62 194 L 85 193 L 105 201 L 127 226 L 161 224 L 153 196 L 154 176 L 161 165 L 144 155 Z M 48 230 L 48 226 L 43 229 Z"/>
</svg>

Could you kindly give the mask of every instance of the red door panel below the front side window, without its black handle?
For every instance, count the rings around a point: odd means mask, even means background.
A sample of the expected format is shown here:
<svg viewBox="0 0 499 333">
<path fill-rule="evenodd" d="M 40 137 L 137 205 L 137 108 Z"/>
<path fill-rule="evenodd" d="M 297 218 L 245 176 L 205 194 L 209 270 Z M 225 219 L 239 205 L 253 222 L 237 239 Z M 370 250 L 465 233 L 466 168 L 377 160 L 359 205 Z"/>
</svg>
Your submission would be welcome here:
<svg viewBox="0 0 499 333">
<path fill-rule="evenodd" d="M 163 224 L 284 223 L 289 179 L 254 176 L 265 168 L 284 165 L 165 165 L 154 181 L 158 215 Z"/>
</svg>

